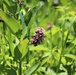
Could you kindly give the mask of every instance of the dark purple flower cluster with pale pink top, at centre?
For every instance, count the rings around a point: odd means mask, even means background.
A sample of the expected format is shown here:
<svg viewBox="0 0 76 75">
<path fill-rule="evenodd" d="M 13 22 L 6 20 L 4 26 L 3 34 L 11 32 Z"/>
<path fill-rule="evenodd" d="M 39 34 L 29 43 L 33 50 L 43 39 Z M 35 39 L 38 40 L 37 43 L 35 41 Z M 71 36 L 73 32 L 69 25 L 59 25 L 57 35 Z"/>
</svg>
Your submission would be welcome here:
<svg viewBox="0 0 76 75">
<path fill-rule="evenodd" d="M 36 34 L 30 40 L 30 44 L 34 44 L 34 46 L 37 46 L 43 40 L 44 40 L 44 29 L 41 27 L 38 27 L 36 30 Z"/>
</svg>

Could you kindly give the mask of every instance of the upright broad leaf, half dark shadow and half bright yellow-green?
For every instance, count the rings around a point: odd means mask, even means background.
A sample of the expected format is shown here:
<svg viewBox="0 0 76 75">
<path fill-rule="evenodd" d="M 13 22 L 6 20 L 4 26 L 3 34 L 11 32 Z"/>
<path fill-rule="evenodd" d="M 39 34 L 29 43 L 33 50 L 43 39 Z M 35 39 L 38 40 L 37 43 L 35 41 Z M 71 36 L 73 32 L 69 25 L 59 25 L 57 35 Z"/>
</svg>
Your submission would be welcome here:
<svg viewBox="0 0 76 75">
<path fill-rule="evenodd" d="M 28 45 L 28 39 L 22 40 L 18 46 L 16 46 L 15 50 L 14 50 L 14 56 L 16 59 L 20 60 L 21 58 L 23 58 L 28 49 L 27 49 L 27 45 Z"/>
</svg>

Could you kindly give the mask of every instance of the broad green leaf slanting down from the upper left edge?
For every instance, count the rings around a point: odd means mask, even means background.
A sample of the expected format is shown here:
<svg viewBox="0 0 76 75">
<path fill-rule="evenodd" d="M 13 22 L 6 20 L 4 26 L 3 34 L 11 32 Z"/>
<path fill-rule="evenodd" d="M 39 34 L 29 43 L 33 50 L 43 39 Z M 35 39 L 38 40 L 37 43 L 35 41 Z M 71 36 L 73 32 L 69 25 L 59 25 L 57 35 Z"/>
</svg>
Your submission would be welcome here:
<svg viewBox="0 0 76 75">
<path fill-rule="evenodd" d="M 21 25 L 17 22 L 17 20 L 4 11 L 0 11 L 0 17 L 4 20 L 13 33 L 16 33 L 21 29 Z"/>
</svg>

